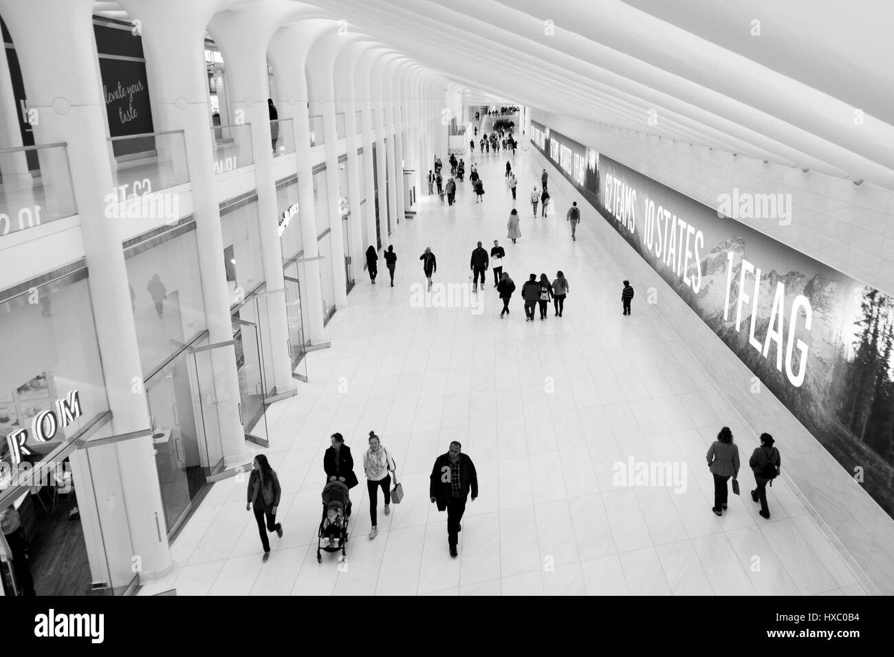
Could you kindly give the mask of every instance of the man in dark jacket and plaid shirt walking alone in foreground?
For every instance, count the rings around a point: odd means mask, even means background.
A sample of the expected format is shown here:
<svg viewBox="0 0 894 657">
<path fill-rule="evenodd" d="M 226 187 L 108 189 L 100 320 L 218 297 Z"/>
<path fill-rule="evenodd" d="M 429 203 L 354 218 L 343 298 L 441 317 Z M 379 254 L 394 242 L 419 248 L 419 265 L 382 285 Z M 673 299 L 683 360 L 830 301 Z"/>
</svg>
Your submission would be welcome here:
<svg viewBox="0 0 894 657">
<path fill-rule="evenodd" d="M 434 460 L 432 476 L 428 485 L 428 494 L 438 510 L 447 510 L 447 542 L 450 543 L 450 555 L 455 557 L 456 543 L 462 530 L 460 521 L 466 512 L 468 493 L 472 493 L 472 501 L 478 496 L 478 475 L 475 464 L 466 454 L 460 453 L 462 445 L 453 441 L 450 451 Z"/>
</svg>

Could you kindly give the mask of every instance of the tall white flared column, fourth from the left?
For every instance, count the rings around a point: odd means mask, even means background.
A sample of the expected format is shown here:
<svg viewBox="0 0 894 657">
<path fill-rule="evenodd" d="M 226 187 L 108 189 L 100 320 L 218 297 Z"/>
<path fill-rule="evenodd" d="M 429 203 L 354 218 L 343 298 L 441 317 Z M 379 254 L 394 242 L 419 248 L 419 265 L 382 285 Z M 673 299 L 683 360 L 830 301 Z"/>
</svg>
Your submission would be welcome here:
<svg viewBox="0 0 894 657">
<path fill-rule="evenodd" d="M 276 95 L 281 98 L 277 106 L 280 119 L 291 119 L 295 129 L 295 153 L 298 161 L 298 205 L 301 227 L 301 245 L 304 259 L 301 265 L 301 305 L 307 310 L 305 335 L 310 343 L 326 341 L 323 326 L 323 291 L 320 284 L 319 249 L 316 244 L 316 207 L 314 206 L 314 177 L 310 165 L 310 128 L 308 114 L 308 80 L 305 63 L 308 48 L 313 44 L 314 33 L 310 26 L 293 23 L 279 29 L 267 48 L 267 56 L 276 71 Z M 283 102 L 284 101 L 284 102 Z M 294 219 L 292 220 L 294 221 Z M 328 259 L 329 254 L 325 254 Z M 325 263 L 330 266 L 330 263 Z"/>
</svg>

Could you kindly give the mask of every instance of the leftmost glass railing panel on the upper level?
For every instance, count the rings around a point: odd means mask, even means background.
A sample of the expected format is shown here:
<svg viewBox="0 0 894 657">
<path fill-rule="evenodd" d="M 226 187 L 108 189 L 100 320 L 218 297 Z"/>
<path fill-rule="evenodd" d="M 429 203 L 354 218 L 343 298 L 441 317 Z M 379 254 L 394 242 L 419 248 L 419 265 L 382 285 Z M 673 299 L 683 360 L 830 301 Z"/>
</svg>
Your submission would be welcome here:
<svg viewBox="0 0 894 657">
<path fill-rule="evenodd" d="M 0 235 L 77 212 L 64 143 L 0 148 Z"/>
</svg>

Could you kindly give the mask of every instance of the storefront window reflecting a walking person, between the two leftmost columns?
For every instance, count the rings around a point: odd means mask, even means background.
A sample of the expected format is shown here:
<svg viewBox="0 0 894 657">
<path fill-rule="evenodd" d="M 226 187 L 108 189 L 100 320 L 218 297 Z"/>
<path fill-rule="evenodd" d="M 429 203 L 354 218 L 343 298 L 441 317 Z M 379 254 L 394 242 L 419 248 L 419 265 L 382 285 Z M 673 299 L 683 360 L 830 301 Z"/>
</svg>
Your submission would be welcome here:
<svg viewBox="0 0 894 657">
<path fill-rule="evenodd" d="M 207 328 L 196 232 L 181 232 L 194 227 L 178 227 L 125 249 L 143 376 L 179 350 L 176 345 Z"/>
</svg>

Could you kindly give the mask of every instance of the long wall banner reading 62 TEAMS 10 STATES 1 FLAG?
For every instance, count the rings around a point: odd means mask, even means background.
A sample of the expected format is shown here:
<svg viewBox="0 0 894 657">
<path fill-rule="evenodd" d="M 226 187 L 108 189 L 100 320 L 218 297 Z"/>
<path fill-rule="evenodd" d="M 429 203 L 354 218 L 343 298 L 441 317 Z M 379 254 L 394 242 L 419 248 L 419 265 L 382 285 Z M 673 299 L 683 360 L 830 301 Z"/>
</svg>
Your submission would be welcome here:
<svg viewBox="0 0 894 657">
<path fill-rule="evenodd" d="M 714 209 L 538 123 L 531 134 L 605 221 L 894 517 L 894 298 L 727 218 L 750 212 L 790 222 L 790 197 L 730 190 Z"/>
</svg>

